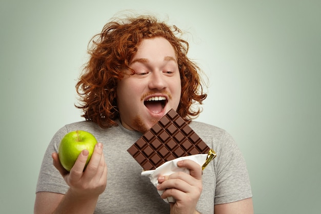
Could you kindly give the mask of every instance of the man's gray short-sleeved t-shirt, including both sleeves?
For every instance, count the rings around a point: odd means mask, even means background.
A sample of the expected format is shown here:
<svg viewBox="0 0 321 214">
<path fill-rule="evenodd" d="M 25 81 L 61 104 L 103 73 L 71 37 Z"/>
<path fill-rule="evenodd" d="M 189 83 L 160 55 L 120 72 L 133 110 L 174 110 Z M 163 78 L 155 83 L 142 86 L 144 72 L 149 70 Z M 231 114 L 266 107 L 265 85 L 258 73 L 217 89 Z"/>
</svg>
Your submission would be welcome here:
<svg viewBox="0 0 321 214">
<path fill-rule="evenodd" d="M 217 154 L 203 171 L 203 191 L 196 209 L 200 213 L 214 213 L 214 204 L 252 197 L 245 160 L 232 137 L 223 129 L 205 123 L 193 121 L 189 125 Z M 53 166 L 51 153 L 57 152 L 64 135 L 74 130 L 91 132 L 98 142 L 104 144 L 107 187 L 99 196 L 94 213 L 170 212 L 169 204 L 160 198 L 149 178 L 141 176 L 142 167 L 127 152 L 142 133 L 122 125 L 103 129 L 93 122 L 83 121 L 59 129 L 44 155 L 36 192 L 67 192 L 69 187 Z"/>
</svg>

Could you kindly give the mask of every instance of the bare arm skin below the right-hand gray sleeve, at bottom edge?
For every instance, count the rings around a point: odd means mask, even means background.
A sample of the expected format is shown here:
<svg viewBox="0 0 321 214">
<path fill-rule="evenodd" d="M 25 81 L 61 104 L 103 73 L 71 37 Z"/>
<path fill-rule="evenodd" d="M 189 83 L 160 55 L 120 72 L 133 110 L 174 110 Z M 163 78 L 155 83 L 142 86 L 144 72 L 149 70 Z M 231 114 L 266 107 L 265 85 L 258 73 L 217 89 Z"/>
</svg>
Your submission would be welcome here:
<svg viewBox="0 0 321 214">
<path fill-rule="evenodd" d="M 214 206 L 215 214 L 253 214 L 252 198 Z"/>
</svg>

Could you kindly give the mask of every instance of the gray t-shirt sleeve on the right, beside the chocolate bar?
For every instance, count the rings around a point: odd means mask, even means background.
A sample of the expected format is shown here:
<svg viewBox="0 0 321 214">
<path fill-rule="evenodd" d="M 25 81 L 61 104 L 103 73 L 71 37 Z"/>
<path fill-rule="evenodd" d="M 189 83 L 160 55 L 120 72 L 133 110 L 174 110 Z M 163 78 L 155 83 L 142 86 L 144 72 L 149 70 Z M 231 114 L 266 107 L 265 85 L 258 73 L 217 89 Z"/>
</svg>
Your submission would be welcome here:
<svg viewBox="0 0 321 214">
<path fill-rule="evenodd" d="M 216 162 L 215 204 L 251 198 L 252 191 L 245 159 L 227 132 L 221 135 Z"/>
</svg>

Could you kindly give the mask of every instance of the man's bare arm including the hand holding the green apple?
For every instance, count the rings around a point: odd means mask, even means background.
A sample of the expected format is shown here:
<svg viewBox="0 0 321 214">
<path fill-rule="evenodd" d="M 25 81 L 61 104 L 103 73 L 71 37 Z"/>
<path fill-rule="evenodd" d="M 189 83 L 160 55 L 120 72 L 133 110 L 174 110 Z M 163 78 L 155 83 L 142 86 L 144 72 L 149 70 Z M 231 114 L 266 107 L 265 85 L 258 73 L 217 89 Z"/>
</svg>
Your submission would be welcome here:
<svg viewBox="0 0 321 214">
<path fill-rule="evenodd" d="M 91 160 L 84 171 L 88 151 L 79 154 L 75 165 L 66 171 L 59 162 L 58 154 L 52 153 L 53 164 L 69 185 L 67 193 L 38 192 L 34 213 L 93 213 L 99 194 L 107 183 L 107 167 L 101 143 L 95 146 Z"/>
</svg>

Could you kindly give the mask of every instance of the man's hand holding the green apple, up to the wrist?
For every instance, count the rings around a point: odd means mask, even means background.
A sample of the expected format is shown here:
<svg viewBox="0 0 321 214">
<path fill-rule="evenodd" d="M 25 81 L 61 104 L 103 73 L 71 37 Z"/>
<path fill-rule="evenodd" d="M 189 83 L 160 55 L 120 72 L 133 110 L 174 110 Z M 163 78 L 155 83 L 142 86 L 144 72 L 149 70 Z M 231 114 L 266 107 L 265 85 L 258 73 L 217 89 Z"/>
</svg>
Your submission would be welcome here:
<svg viewBox="0 0 321 214">
<path fill-rule="evenodd" d="M 107 184 L 107 166 L 103 154 L 103 144 L 97 143 L 95 145 L 91 159 L 84 171 L 87 158 L 88 151 L 83 150 L 68 172 L 59 162 L 58 154 L 52 153 L 53 165 L 64 177 L 70 191 L 77 197 L 98 197 L 104 192 Z"/>
</svg>

